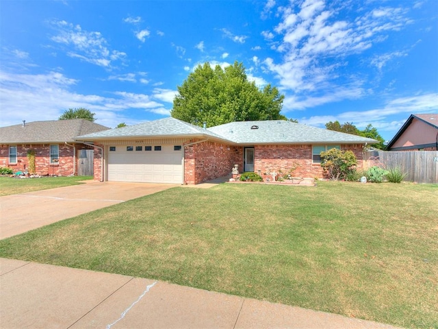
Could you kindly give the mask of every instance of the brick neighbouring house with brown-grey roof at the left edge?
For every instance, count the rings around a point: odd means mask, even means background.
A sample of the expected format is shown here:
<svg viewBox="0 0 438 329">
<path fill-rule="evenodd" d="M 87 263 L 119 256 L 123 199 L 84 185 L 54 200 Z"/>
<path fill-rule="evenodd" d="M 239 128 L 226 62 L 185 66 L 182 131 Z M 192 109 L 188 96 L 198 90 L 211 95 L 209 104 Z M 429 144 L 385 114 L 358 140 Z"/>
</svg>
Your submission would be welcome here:
<svg viewBox="0 0 438 329">
<path fill-rule="evenodd" d="M 85 119 L 34 121 L 0 127 L 0 167 L 28 171 L 30 154 L 38 175 L 93 175 L 94 147 L 75 137 L 109 130 Z"/>
</svg>

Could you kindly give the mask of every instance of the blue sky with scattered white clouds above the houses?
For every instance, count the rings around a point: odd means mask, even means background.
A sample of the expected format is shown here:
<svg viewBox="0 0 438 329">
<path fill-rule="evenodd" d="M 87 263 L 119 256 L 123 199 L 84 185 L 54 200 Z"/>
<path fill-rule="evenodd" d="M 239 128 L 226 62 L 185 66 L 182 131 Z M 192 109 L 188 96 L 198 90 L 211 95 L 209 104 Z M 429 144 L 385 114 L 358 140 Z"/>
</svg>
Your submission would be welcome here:
<svg viewBox="0 0 438 329">
<path fill-rule="evenodd" d="M 88 108 L 109 127 L 167 117 L 198 64 L 243 62 L 300 123 L 390 140 L 438 112 L 438 1 L 0 1 L 0 126 Z"/>
</svg>

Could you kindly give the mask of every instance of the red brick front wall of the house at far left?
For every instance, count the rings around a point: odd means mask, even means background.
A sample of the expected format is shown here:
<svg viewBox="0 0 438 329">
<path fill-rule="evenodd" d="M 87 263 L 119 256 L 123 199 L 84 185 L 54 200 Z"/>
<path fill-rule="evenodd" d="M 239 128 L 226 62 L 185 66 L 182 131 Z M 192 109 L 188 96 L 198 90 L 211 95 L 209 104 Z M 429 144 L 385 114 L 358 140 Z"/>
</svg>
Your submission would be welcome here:
<svg viewBox="0 0 438 329">
<path fill-rule="evenodd" d="M 26 171 L 29 169 L 29 160 L 27 151 L 34 149 L 35 169 L 38 175 L 58 175 L 68 176 L 75 174 L 73 162 L 73 147 L 65 144 L 59 145 L 59 161 L 57 164 L 50 163 L 50 144 L 31 144 L 31 145 L 12 145 L 17 148 L 16 164 L 9 163 L 10 145 L 1 145 L 0 147 L 0 166 L 8 167 L 15 172 Z"/>
</svg>

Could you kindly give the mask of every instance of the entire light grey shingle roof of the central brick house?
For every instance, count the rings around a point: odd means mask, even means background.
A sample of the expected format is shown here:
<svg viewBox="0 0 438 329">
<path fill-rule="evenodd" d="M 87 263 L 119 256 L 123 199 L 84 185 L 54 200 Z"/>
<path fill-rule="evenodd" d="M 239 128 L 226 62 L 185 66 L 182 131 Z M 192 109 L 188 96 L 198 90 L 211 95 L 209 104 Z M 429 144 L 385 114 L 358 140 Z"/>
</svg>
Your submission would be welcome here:
<svg viewBox="0 0 438 329">
<path fill-rule="evenodd" d="M 257 127 L 257 129 L 255 129 Z M 135 137 L 191 136 L 211 138 L 235 144 L 281 144 L 281 143 L 377 143 L 374 139 L 333 132 L 290 121 L 239 121 L 209 127 L 207 129 L 168 117 L 138 125 L 121 127 L 85 136 L 79 141 L 120 139 Z"/>
</svg>

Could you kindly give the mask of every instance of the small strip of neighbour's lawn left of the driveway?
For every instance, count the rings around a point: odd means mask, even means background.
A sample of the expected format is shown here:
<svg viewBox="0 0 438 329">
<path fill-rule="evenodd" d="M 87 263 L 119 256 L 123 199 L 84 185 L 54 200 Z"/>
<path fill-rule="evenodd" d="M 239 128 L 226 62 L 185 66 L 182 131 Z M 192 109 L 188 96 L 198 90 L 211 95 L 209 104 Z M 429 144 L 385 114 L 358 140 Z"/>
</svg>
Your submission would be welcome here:
<svg viewBox="0 0 438 329">
<path fill-rule="evenodd" d="M 0 197 L 49 188 L 81 184 L 83 180 L 92 180 L 92 176 L 42 177 L 42 178 L 11 178 L 0 177 Z"/>
</svg>

